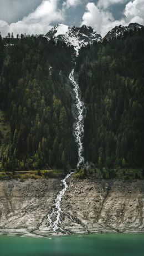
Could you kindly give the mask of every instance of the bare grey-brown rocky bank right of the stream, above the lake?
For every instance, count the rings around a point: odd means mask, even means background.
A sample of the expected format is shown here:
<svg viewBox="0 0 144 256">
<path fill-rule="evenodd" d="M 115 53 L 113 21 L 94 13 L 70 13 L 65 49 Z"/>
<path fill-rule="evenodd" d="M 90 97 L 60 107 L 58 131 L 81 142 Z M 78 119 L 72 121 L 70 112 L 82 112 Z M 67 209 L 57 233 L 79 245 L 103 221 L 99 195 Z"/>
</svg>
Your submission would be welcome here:
<svg viewBox="0 0 144 256">
<path fill-rule="evenodd" d="M 144 232 L 144 181 L 73 179 L 62 207 L 82 232 Z M 79 233 L 76 225 L 68 230 Z"/>
</svg>

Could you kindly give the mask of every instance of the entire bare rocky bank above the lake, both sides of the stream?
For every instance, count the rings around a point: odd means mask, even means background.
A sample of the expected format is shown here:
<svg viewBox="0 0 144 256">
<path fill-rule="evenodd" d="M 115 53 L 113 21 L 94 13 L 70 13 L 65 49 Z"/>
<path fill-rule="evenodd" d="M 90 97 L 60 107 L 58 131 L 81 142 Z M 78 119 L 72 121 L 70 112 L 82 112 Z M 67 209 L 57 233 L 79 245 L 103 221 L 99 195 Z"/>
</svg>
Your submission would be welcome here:
<svg viewBox="0 0 144 256">
<path fill-rule="evenodd" d="M 53 233 L 47 221 L 59 179 L 0 182 L 0 233 Z M 61 227 L 69 233 L 144 232 L 144 180 L 76 180 L 61 202 Z"/>
</svg>

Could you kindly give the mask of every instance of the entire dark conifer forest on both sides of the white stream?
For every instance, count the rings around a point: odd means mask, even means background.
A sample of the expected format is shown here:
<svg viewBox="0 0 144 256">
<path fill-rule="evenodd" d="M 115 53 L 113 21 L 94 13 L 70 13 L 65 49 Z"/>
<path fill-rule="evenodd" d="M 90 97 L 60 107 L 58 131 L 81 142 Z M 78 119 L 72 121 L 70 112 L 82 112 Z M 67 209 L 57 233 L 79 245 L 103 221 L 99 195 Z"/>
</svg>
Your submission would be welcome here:
<svg viewBox="0 0 144 256">
<path fill-rule="evenodd" d="M 83 47 L 78 57 L 73 47 L 43 36 L 0 37 L 1 168 L 76 167 L 68 79 L 75 61 L 85 104 L 85 160 L 99 168 L 143 167 L 142 28 Z"/>
</svg>

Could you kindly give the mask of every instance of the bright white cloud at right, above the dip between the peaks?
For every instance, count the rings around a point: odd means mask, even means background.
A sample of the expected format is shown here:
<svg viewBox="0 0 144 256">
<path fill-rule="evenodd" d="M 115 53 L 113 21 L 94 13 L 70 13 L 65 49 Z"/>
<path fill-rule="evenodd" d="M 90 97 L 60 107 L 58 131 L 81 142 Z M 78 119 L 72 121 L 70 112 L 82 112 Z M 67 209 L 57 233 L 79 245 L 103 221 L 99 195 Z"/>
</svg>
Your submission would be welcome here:
<svg viewBox="0 0 144 256">
<path fill-rule="evenodd" d="M 101 33 L 102 36 L 105 36 L 112 28 L 120 24 L 124 26 L 127 26 L 131 22 L 144 24 L 144 0 L 128 2 L 125 6 L 124 17 L 120 20 L 115 20 L 107 7 L 112 3 L 119 2 L 118 0 L 99 0 L 97 5 L 93 2 L 89 2 L 86 5 L 86 11 L 81 24 L 93 27 L 97 32 Z"/>
</svg>

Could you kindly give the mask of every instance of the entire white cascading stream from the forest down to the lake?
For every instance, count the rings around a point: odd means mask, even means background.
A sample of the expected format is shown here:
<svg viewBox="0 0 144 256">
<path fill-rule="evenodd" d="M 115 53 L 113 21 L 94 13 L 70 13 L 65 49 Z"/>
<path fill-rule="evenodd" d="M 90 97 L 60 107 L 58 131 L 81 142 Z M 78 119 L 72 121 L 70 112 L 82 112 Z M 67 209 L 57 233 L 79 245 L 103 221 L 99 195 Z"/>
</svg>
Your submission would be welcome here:
<svg viewBox="0 0 144 256">
<path fill-rule="evenodd" d="M 84 103 L 80 99 L 80 89 L 79 85 L 74 80 L 74 69 L 71 71 L 69 75 L 69 81 L 73 84 L 73 91 L 75 93 L 75 99 L 76 99 L 76 122 L 74 126 L 74 136 L 76 143 L 78 143 L 78 164 L 77 167 L 84 164 L 84 157 L 83 157 L 83 135 L 84 135 L 84 123 L 83 123 L 83 112 L 84 112 Z M 68 233 L 63 228 L 59 227 L 59 224 L 61 223 L 61 214 L 63 211 L 61 210 L 61 199 L 63 198 L 66 189 L 68 189 L 68 184 L 66 183 L 66 180 L 73 174 L 74 172 L 71 172 L 70 174 L 66 175 L 66 177 L 61 180 L 61 182 L 64 185 L 64 188 L 59 192 L 55 199 L 54 208 L 52 210 L 52 213 L 48 214 L 48 222 L 49 227 L 53 229 L 54 232 L 57 230 L 60 230 L 63 233 Z M 72 217 L 69 215 L 70 220 L 73 220 Z"/>
</svg>

